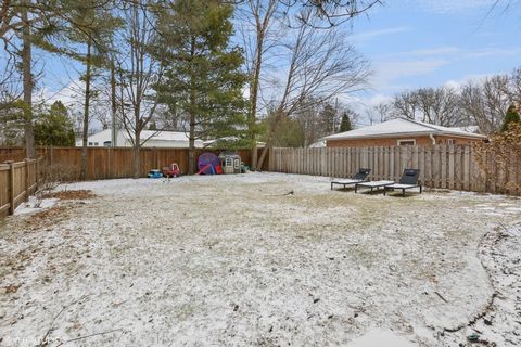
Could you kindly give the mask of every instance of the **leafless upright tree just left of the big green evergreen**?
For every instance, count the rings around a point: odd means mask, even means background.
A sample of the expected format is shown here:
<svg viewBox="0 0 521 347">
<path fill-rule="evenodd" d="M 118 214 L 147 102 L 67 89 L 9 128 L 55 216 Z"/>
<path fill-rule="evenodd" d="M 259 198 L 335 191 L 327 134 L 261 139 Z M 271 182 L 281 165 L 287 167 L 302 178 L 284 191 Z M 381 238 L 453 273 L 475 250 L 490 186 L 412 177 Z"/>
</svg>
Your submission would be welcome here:
<svg viewBox="0 0 521 347">
<path fill-rule="evenodd" d="M 122 123 L 134 147 L 134 178 L 139 178 L 140 149 L 149 140 L 142 139 L 141 132 L 155 114 L 158 100 L 152 87 L 161 81 L 164 66 L 154 52 L 158 37 L 149 1 L 129 2 L 124 12 L 126 27 L 116 42 L 115 62 Z"/>
</svg>

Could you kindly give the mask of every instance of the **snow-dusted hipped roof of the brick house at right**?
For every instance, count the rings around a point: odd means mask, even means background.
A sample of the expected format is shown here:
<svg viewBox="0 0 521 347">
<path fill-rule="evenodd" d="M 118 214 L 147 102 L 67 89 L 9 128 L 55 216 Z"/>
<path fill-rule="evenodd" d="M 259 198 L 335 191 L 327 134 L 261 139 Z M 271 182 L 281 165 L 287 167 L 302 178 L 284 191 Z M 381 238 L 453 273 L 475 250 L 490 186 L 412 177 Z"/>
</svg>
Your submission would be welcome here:
<svg viewBox="0 0 521 347">
<path fill-rule="evenodd" d="M 340 132 L 323 138 L 327 141 L 364 138 L 392 138 L 396 136 L 445 134 L 460 138 L 486 139 L 486 136 L 472 133 L 461 128 L 447 128 L 423 121 L 396 118 L 351 131 Z"/>
</svg>

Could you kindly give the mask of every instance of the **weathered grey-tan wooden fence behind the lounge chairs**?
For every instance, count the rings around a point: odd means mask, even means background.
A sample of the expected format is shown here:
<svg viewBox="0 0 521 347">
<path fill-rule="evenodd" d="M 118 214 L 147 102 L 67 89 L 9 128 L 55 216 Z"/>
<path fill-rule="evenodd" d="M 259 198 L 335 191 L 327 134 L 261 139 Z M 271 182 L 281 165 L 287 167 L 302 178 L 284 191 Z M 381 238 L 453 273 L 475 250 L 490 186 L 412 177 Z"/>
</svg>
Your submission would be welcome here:
<svg viewBox="0 0 521 347">
<path fill-rule="evenodd" d="M 272 149 L 269 170 L 346 178 L 370 168 L 371 180 L 396 181 L 405 168 L 418 168 L 428 188 L 521 195 L 521 157 L 507 153 L 500 167 L 478 155 L 471 145 Z"/>
</svg>

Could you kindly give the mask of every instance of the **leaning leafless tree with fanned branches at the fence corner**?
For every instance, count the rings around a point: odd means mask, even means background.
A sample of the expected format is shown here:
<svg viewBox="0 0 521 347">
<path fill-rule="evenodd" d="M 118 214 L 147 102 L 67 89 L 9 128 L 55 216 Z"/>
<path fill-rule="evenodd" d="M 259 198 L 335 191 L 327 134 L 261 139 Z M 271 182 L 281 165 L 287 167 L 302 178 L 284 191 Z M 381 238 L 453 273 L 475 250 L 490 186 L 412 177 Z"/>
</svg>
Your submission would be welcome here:
<svg viewBox="0 0 521 347">
<path fill-rule="evenodd" d="M 301 13 L 312 23 L 312 12 Z M 300 26 L 287 35 L 283 44 L 288 65 L 281 89 L 275 88 L 277 107 L 267 134 L 267 143 L 257 167 L 262 167 L 271 146 L 278 123 L 312 99 L 320 103 L 331 98 L 359 90 L 369 76 L 368 63 L 345 40 L 336 27 L 318 30 L 312 25 Z"/>
</svg>

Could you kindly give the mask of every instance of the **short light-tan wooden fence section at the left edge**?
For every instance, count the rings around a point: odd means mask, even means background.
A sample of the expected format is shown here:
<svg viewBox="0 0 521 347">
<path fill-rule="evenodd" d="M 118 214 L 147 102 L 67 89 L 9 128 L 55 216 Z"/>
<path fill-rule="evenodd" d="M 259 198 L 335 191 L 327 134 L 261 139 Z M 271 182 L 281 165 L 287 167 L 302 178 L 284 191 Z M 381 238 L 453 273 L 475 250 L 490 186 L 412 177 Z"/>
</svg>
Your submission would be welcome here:
<svg viewBox="0 0 521 347">
<path fill-rule="evenodd" d="M 38 160 L 0 164 L 0 217 L 14 214 L 38 185 Z"/>
</svg>

